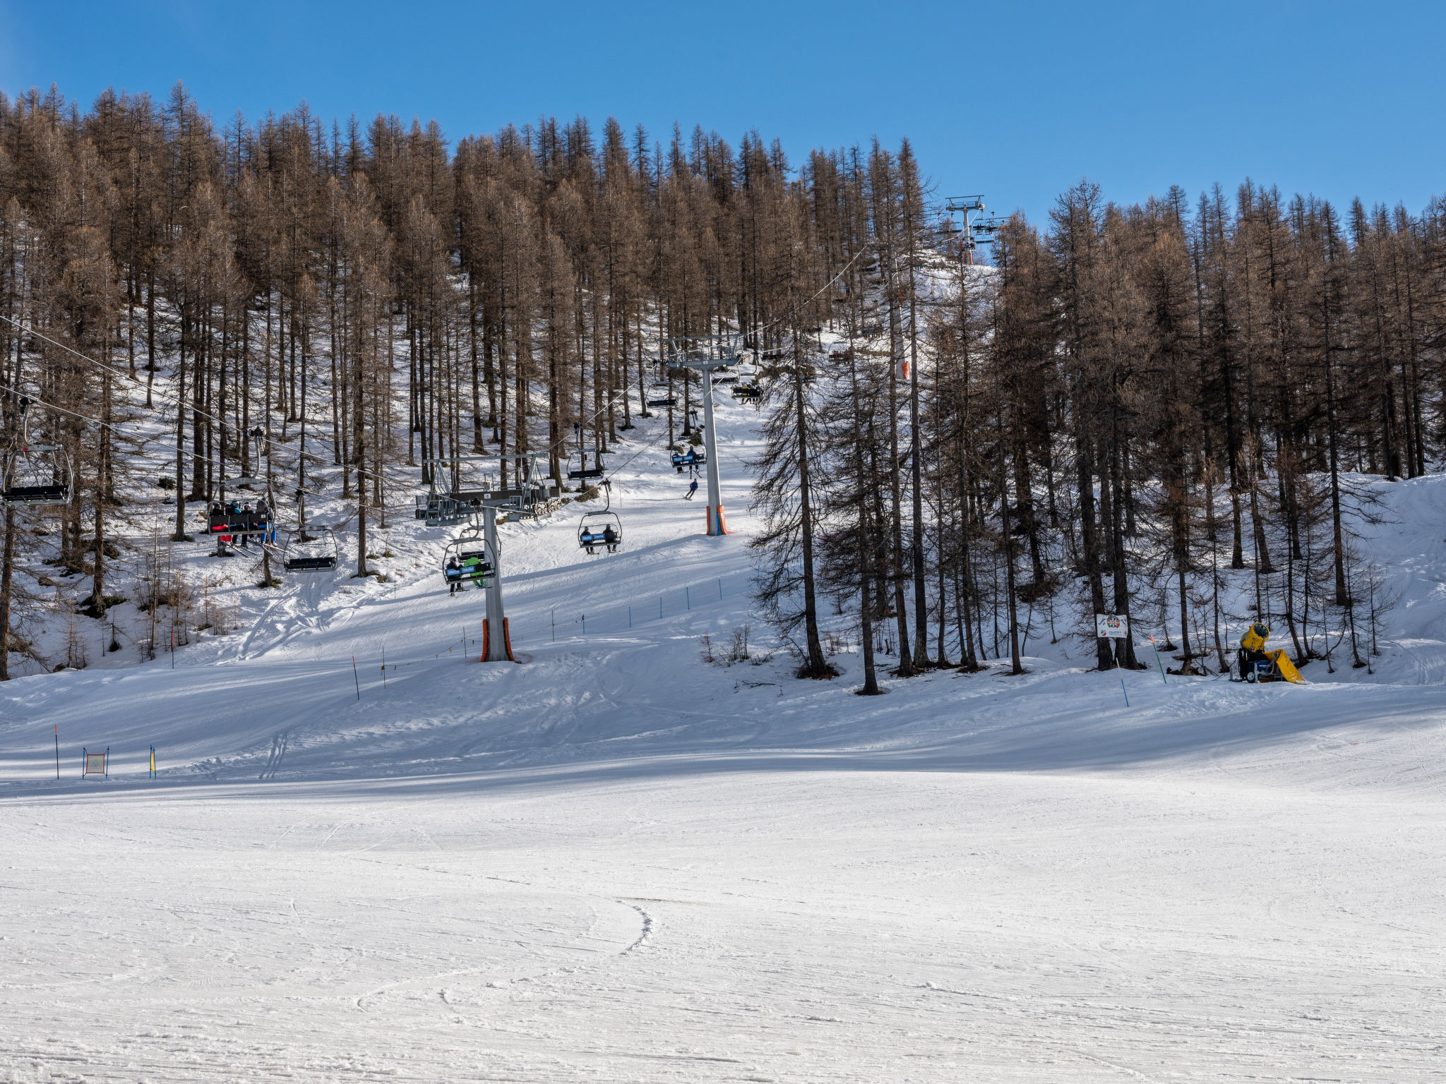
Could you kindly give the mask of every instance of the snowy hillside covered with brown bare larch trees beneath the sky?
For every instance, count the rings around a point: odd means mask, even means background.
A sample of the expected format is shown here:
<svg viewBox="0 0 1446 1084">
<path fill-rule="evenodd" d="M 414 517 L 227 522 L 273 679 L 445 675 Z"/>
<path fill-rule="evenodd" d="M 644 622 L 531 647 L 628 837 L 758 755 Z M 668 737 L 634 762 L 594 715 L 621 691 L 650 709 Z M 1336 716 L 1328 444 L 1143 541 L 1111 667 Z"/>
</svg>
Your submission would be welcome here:
<svg viewBox="0 0 1446 1084">
<path fill-rule="evenodd" d="M 4 509 L 0 678 L 55 662 L 26 632 L 62 604 L 46 569 L 101 619 L 163 494 L 182 541 L 224 478 L 331 471 L 366 574 L 367 523 L 411 515 L 428 458 L 561 477 L 574 426 L 610 449 L 659 379 L 688 439 L 681 335 L 742 335 L 766 379 L 761 606 L 817 676 L 818 607 L 857 613 L 869 689 L 876 646 L 905 676 L 1018 669 L 1043 614 L 1132 614 L 1186 672 L 1223 666 L 1246 611 L 1301 662 L 1359 658 L 1388 598 L 1352 478 L 1423 474 L 1446 438 L 1440 201 L 1342 215 L 1246 182 L 1118 207 L 1082 182 L 980 269 L 907 142 L 790 163 L 755 133 L 578 119 L 451 145 L 304 107 L 218 123 L 178 87 L 0 100 L 0 454 L 75 490 Z M 23 452 L 22 397 L 58 451 Z"/>
</svg>

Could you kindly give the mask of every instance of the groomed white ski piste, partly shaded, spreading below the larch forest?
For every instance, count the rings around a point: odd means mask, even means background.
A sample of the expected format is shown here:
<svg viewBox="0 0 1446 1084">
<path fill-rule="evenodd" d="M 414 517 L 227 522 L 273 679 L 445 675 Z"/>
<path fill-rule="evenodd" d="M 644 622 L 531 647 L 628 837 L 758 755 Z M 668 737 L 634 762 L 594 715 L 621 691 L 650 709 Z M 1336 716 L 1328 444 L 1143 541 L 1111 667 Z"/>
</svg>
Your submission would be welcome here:
<svg viewBox="0 0 1446 1084">
<path fill-rule="evenodd" d="M 518 665 L 457 529 L 396 520 L 386 582 L 343 541 L 230 635 L 0 687 L 0 1080 L 1446 1077 L 1446 477 L 1379 483 L 1374 676 L 1035 639 L 862 698 L 750 613 L 719 419 L 727 538 L 656 419 L 622 552 L 577 546 L 600 502 L 503 526 Z"/>
</svg>

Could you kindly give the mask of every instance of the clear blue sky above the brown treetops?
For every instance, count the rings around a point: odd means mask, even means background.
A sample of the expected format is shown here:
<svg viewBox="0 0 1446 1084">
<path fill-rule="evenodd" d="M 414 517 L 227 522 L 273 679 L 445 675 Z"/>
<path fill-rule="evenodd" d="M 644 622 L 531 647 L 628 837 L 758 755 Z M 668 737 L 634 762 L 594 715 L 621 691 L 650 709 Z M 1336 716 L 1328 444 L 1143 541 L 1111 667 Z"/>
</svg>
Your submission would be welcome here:
<svg viewBox="0 0 1446 1084">
<path fill-rule="evenodd" d="M 1446 3 L 14 3 L 0 90 L 181 79 L 224 123 L 544 114 L 677 120 L 794 162 L 908 136 L 940 197 L 1043 218 L 1082 176 L 1122 202 L 1252 176 L 1338 202 L 1446 192 Z"/>
</svg>

